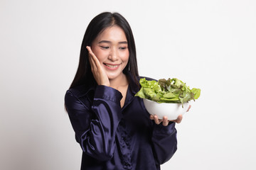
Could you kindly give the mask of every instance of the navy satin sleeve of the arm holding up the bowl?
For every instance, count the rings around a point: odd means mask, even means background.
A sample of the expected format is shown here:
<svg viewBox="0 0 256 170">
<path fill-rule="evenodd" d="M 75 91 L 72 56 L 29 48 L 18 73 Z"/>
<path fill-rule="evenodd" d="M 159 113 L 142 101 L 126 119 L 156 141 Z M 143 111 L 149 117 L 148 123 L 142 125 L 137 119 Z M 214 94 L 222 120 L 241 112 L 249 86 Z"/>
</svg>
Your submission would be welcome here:
<svg viewBox="0 0 256 170">
<path fill-rule="evenodd" d="M 176 133 L 175 123 L 169 123 L 167 126 L 154 123 L 152 142 L 158 164 L 164 164 L 176 152 Z"/>
</svg>

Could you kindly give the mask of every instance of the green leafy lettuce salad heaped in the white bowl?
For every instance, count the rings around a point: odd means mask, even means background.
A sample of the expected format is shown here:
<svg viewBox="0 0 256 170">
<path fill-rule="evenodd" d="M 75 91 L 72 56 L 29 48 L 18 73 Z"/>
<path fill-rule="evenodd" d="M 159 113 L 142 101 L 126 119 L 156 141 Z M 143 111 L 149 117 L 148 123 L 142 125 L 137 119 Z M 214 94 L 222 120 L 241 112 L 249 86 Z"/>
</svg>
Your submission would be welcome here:
<svg viewBox="0 0 256 170">
<path fill-rule="evenodd" d="M 201 89 L 190 89 L 186 83 L 179 79 L 159 79 L 159 81 L 146 80 L 145 78 L 139 80 L 142 88 L 135 96 L 146 98 L 158 103 L 186 103 L 188 101 L 195 101 L 201 94 Z"/>
</svg>

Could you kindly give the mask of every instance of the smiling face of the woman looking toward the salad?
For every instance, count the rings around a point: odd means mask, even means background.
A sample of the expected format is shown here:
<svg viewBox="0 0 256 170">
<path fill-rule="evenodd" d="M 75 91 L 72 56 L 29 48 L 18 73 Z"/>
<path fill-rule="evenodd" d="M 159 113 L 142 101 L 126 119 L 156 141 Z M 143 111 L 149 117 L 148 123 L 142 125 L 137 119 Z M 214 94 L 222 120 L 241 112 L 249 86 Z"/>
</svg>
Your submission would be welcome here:
<svg viewBox="0 0 256 170">
<path fill-rule="evenodd" d="M 92 42 L 92 52 L 100 61 L 110 80 L 122 76 L 122 71 L 129 60 L 124 30 L 119 26 L 106 28 Z"/>
</svg>

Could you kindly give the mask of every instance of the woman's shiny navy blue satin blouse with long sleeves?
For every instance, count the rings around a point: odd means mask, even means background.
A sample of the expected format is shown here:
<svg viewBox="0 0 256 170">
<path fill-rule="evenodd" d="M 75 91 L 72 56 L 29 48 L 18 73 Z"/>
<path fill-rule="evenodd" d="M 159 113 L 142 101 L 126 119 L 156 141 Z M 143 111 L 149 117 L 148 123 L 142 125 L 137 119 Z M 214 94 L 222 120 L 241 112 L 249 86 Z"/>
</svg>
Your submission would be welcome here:
<svg viewBox="0 0 256 170">
<path fill-rule="evenodd" d="M 139 91 L 129 79 L 122 94 L 109 86 L 78 86 L 65 94 L 65 107 L 82 147 L 81 169 L 160 169 L 177 149 L 175 123 L 149 119 Z"/>
</svg>

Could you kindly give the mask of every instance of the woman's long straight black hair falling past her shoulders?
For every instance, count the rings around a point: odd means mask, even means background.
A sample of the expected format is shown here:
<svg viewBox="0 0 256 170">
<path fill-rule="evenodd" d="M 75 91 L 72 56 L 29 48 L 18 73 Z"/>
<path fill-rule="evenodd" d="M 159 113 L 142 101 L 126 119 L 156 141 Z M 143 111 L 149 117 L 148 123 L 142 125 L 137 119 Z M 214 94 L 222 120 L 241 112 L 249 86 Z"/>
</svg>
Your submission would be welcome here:
<svg viewBox="0 0 256 170">
<path fill-rule="evenodd" d="M 73 79 L 70 88 L 87 84 L 94 80 L 86 46 L 91 46 L 93 40 L 97 38 L 97 35 L 102 33 L 103 30 L 110 26 L 119 26 L 122 28 L 127 38 L 129 61 L 123 72 L 130 72 L 135 81 L 137 80 L 137 77 L 139 77 L 134 36 L 129 23 L 119 13 L 104 12 L 95 16 L 95 18 L 93 18 L 87 26 L 84 38 L 82 40 L 78 71 L 75 74 L 75 78 Z"/>
</svg>

